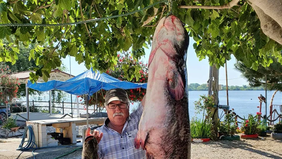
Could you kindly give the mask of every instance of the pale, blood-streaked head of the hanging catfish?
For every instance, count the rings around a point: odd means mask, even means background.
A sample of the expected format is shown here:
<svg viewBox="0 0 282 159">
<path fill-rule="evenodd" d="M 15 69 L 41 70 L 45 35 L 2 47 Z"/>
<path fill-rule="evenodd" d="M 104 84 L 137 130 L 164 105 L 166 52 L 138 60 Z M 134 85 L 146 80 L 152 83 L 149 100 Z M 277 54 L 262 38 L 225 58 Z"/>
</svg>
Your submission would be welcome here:
<svg viewBox="0 0 282 159">
<path fill-rule="evenodd" d="M 163 17 L 160 20 L 153 36 L 149 66 L 158 49 L 161 49 L 162 52 L 177 63 L 186 61 L 189 36 L 184 26 L 185 24 L 174 15 Z"/>
</svg>

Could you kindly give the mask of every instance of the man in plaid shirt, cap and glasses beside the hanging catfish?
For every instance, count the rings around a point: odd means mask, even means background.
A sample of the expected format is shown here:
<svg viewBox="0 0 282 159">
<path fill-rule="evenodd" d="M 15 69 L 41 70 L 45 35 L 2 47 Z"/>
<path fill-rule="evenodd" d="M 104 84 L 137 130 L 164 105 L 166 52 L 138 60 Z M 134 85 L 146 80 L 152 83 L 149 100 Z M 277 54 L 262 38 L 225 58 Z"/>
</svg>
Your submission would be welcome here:
<svg viewBox="0 0 282 159">
<path fill-rule="evenodd" d="M 146 151 L 137 150 L 134 146 L 145 98 L 146 95 L 137 110 L 129 114 L 129 99 L 125 90 L 112 89 L 107 91 L 105 107 L 108 118 L 93 133 L 93 136 L 98 140 L 99 158 L 146 158 Z"/>
</svg>

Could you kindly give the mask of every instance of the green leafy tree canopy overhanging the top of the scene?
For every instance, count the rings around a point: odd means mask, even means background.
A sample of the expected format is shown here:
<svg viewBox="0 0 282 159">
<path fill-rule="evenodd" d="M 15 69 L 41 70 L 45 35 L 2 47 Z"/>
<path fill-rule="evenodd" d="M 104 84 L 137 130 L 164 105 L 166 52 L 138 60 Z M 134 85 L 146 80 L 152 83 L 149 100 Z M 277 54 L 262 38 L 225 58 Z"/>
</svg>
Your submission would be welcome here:
<svg viewBox="0 0 282 159">
<path fill-rule="evenodd" d="M 234 54 L 238 61 L 257 70 L 269 66 L 277 58 L 282 63 L 281 1 L 265 0 L 177 0 L 172 1 L 172 14 L 185 23 L 199 59 L 209 58 L 209 64 L 224 66 Z M 0 0 L 0 23 L 62 24 L 130 13 L 154 4 L 157 0 Z M 279 5 L 280 3 L 280 5 Z M 280 7 L 280 8 L 279 8 Z M 63 26 L 0 27 L 0 62 L 15 64 L 19 43 L 36 44 L 29 60 L 36 67 L 32 82 L 38 77 L 47 81 L 51 69 L 61 66 L 67 55 L 75 57 L 86 68 L 105 72 L 117 64 L 117 54 L 131 48 L 137 61 L 151 45 L 152 35 L 160 19 L 168 13 L 166 3 L 160 3 L 135 14 Z M 9 35 L 14 35 L 11 40 Z M 5 45 L 3 40 L 9 44 Z M 191 52 L 189 54 L 192 54 Z M 189 55 L 188 55 L 189 56 Z M 132 67 L 133 68 L 133 67 Z M 127 69 L 129 70 L 129 69 Z M 138 76 L 133 68 L 126 76 Z"/>
</svg>

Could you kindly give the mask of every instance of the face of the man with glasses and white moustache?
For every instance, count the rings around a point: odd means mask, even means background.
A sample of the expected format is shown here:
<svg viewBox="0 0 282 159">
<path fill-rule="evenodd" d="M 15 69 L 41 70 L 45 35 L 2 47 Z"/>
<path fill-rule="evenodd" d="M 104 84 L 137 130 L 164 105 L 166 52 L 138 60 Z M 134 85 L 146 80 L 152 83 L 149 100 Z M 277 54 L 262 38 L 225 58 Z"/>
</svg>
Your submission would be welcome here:
<svg viewBox="0 0 282 159">
<path fill-rule="evenodd" d="M 120 102 L 119 100 L 114 100 L 108 103 L 108 105 L 109 104 L 121 104 L 121 103 L 123 102 Z M 110 109 L 108 105 L 106 106 L 106 110 L 107 110 L 107 114 L 108 114 L 108 117 L 112 125 L 115 125 L 115 126 L 124 125 L 127 118 L 129 117 L 129 105 L 125 109 L 120 109 L 119 106 L 117 106 L 115 109 Z"/>
</svg>

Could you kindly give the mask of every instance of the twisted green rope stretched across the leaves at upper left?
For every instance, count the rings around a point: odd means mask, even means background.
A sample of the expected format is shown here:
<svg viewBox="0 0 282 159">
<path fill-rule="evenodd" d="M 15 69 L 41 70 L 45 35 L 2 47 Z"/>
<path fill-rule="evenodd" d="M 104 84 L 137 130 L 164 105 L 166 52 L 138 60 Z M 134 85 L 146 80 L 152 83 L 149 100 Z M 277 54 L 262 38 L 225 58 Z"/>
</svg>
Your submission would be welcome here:
<svg viewBox="0 0 282 159">
<path fill-rule="evenodd" d="M 171 0 L 169 0 L 171 1 Z M 135 10 L 135 11 L 132 11 L 132 12 L 129 12 L 129 13 L 125 13 L 125 14 L 120 14 L 120 15 L 114 15 L 114 16 L 109 16 L 109 17 L 103 17 L 103 18 L 98 18 L 98 19 L 90 19 L 90 20 L 86 20 L 86 21 L 77 21 L 77 22 L 73 22 L 73 23 L 61 23 L 61 24 L 18 24 L 18 23 L 7 23 L 7 24 L 0 24 L 0 27 L 6 27 L 6 26 L 41 26 L 41 27 L 51 27 L 51 26 L 64 26 L 64 25 L 75 25 L 75 24 L 83 24 L 83 23 L 90 23 L 90 22 L 93 22 L 93 21 L 101 21 L 101 20 L 105 20 L 105 19 L 111 19 L 111 18 L 117 18 L 117 17 L 120 17 L 120 16 L 127 16 L 127 15 L 130 15 L 130 14 L 134 14 L 134 13 L 137 13 L 137 12 L 140 12 L 140 11 L 143 11 L 143 10 L 146 10 L 148 8 L 151 8 L 152 6 L 155 6 L 157 4 L 160 4 L 162 2 L 167 2 L 167 0 L 162 0 L 162 1 L 158 1 L 150 6 L 147 6 L 143 9 L 139 9 L 139 10 Z M 171 8 L 171 6 L 170 6 Z"/>
</svg>

